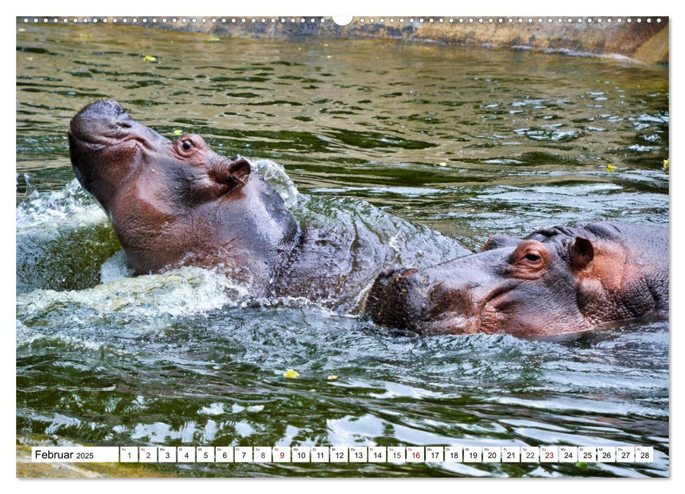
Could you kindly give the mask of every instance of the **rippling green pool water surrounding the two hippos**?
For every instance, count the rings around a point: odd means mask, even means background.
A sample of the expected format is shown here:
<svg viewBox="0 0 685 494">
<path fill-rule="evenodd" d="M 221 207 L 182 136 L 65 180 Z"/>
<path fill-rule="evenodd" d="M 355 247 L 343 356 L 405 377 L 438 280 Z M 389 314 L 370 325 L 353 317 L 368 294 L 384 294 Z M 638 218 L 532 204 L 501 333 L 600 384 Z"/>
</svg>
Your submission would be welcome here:
<svg viewBox="0 0 685 494">
<path fill-rule="evenodd" d="M 73 182 L 66 141 L 78 109 L 114 98 L 169 138 L 199 133 L 219 152 L 254 160 L 303 221 L 396 228 L 408 246 L 415 230 L 406 220 L 476 249 L 490 234 L 552 224 L 667 224 L 667 69 L 377 40 L 18 28 L 23 440 L 647 445 L 653 464 L 151 468 L 196 476 L 668 474 L 667 322 L 624 323 L 566 342 L 420 338 L 300 299 L 255 300 L 206 270 L 130 278 L 107 217 Z M 418 251 L 407 255 L 421 262 Z M 289 368 L 301 377 L 284 378 Z"/>
</svg>

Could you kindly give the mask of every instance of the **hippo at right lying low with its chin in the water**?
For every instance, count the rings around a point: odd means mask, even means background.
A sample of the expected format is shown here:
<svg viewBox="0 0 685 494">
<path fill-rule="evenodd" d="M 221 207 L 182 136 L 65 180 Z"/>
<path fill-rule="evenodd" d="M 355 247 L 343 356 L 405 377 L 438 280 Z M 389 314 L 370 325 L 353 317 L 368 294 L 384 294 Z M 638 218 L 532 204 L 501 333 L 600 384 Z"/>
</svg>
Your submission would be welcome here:
<svg viewBox="0 0 685 494">
<path fill-rule="evenodd" d="M 479 253 L 389 268 L 369 291 L 375 323 L 420 335 L 554 337 L 654 316 L 669 301 L 667 227 L 614 222 L 492 236 Z"/>
</svg>

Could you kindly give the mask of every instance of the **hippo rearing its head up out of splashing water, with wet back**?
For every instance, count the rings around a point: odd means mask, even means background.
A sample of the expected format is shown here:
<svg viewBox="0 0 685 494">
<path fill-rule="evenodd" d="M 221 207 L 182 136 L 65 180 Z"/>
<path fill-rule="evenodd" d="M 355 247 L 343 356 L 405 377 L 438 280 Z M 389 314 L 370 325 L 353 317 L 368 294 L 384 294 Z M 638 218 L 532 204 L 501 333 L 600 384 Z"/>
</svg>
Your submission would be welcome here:
<svg viewBox="0 0 685 494">
<path fill-rule="evenodd" d="M 399 262 L 365 222 L 345 229 L 300 224 L 247 159 L 219 155 L 196 134 L 171 141 L 114 100 L 78 112 L 68 142 L 76 178 L 107 213 L 134 275 L 215 268 L 256 297 L 305 297 L 347 310 L 384 267 Z M 423 231 L 435 240 L 435 232 Z M 437 262 L 447 252 L 470 253 L 445 239 L 437 243 L 447 251 L 426 256 Z"/>
</svg>

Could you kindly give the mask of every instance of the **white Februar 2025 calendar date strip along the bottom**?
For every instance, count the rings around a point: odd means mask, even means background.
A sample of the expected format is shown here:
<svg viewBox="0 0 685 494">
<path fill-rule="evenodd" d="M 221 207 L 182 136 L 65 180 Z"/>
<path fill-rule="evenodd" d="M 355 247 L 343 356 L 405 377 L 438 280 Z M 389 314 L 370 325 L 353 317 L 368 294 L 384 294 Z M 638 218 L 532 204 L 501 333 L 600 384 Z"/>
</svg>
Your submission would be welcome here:
<svg viewBox="0 0 685 494">
<path fill-rule="evenodd" d="M 55 446 L 43 463 L 652 463 L 651 446 Z"/>
</svg>

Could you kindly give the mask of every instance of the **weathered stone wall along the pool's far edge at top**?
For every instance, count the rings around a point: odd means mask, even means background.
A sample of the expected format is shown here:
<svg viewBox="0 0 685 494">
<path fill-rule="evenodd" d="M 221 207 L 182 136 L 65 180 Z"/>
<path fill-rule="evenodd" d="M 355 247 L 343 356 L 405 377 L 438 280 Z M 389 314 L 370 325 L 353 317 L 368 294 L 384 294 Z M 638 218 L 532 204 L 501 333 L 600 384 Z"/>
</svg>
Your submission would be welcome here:
<svg viewBox="0 0 685 494">
<path fill-rule="evenodd" d="M 627 18 L 621 18 L 620 23 L 617 22 L 618 18 L 612 18 L 612 22 L 607 22 L 608 18 L 602 18 L 600 23 L 597 18 L 593 18 L 592 22 L 588 22 L 588 18 L 582 18 L 581 23 L 578 23 L 578 18 L 573 18 L 571 23 L 568 18 L 562 18 L 561 23 L 558 18 L 553 18 L 552 23 L 548 22 L 548 18 L 542 18 L 540 23 L 537 17 L 533 18 L 533 23 L 529 23 L 528 18 L 522 18 L 522 23 L 519 23 L 519 18 L 513 18 L 514 22 L 509 23 L 507 17 L 502 18 L 502 23 L 499 23 L 499 18 L 492 18 L 492 23 L 489 22 L 490 18 L 483 18 L 483 23 L 478 22 L 479 18 L 473 18 L 473 23 L 469 23 L 468 18 L 463 18 L 463 23 L 459 23 L 459 18 L 451 18 L 451 23 L 450 18 L 442 18 L 443 22 L 440 23 L 440 17 L 407 17 L 403 18 L 402 23 L 399 18 L 393 18 L 392 23 L 390 18 L 383 18 L 383 23 L 380 23 L 381 18 L 375 18 L 374 23 L 370 23 L 368 18 L 365 22 L 354 18 L 346 26 L 333 23 L 331 18 L 296 17 L 295 22 L 291 22 L 293 18 L 287 17 L 284 18 L 285 22 L 281 22 L 280 17 L 274 17 L 273 23 L 272 17 L 264 18 L 263 23 L 261 17 L 255 18 L 254 22 L 252 18 L 245 18 L 244 23 L 242 17 L 235 17 L 235 23 L 232 22 L 232 17 L 207 17 L 205 23 L 202 23 L 202 18 L 195 19 L 195 23 L 192 18 L 186 18 L 185 23 L 182 18 L 176 18 L 175 23 L 171 18 L 166 18 L 166 22 L 158 18 L 156 23 L 148 19 L 143 25 L 154 29 L 205 32 L 217 37 L 387 38 L 446 45 L 475 44 L 505 49 L 531 49 L 577 56 L 620 55 L 647 64 L 668 64 L 669 52 L 666 16 L 634 17 L 630 23 Z"/>
</svg>

